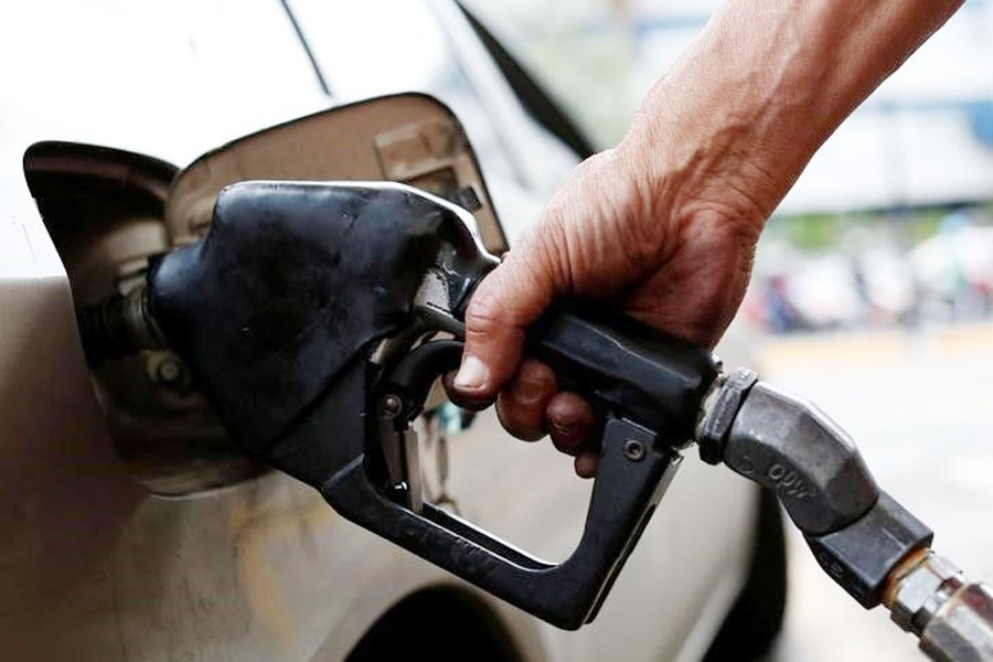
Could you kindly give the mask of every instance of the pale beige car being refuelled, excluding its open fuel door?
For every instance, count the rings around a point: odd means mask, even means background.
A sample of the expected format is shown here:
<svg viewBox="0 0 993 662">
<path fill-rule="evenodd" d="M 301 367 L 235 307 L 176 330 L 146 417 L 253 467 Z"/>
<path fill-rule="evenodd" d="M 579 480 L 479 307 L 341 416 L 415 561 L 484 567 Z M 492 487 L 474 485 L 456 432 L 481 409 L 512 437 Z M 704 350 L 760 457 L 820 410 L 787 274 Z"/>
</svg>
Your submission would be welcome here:
<svg viewBox="0 0 993 662">
<path fill-rule="evenodd" d="M 4 13 L 6 659 L 696 660 L 714 641 L 713 659 L 741 659 L 775 637 L 776 503 L 694 456 L 597 620 L 565 632 L 248 462 L 174 357 L 87 370 L 75 308 L 126 289 L 151 247 L 178 241 L 164 224 L 177 166 L 331 106 L 407 90 L 441 99 L 512 244 L 587 148 L 458 4 L 41 1 Z M 351 158 L 345 147 L 330 156 Z M 734 342 L 718 354 L 749 363 Z M 445 442 L 450 469 L 438 456 L 426 470 L 473 522 L 560 558 L 578 541 L 589 484 L 549 445 L 505 436 L 481 415 Z"/>
</svg>

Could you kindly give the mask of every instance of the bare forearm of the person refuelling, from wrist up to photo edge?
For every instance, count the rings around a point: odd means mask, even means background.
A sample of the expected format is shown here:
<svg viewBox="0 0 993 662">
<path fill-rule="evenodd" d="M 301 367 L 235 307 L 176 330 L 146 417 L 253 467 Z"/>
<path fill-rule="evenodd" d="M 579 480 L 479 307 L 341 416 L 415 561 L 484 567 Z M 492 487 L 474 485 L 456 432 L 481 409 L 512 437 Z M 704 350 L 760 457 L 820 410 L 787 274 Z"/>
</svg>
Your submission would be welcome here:
<svg viewBox="0 0 993 662">
<path fill-rule="evenodd" d="M 648 94 L 622 147 L 669 209 L 713 201 L 760 227 L 837 125 L 960 4 L 729 0 Z"/>
</svg>

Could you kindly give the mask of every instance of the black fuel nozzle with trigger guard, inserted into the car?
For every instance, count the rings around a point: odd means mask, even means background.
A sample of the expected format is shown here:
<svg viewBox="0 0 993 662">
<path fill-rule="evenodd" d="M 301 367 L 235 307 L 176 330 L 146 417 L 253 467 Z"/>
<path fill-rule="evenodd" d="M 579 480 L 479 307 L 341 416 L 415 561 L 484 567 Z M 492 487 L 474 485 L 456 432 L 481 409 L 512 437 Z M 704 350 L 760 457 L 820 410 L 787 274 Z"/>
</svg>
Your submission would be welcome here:
<svg viewBox="0 0 993 662">
<path fill-rule="evenodd" d="M 394 182 L 242 182 L 221 192 L 203 239 L 153 261 L 143 292 L 84 316 L 86 344 L 100 360 L 146 346 L 153 330 L 246 455 L 377 535 L 575 629 L 634 548 L 718 366 L 619 312 L 553 310 L 528 351 L 604 414 L 574 553 L 542 560 L 428 503 L 412 476 L 412 423 L 458 365 L 465 308 L 498 264 L 474 226 L 466 210 Z"/>
</svg>

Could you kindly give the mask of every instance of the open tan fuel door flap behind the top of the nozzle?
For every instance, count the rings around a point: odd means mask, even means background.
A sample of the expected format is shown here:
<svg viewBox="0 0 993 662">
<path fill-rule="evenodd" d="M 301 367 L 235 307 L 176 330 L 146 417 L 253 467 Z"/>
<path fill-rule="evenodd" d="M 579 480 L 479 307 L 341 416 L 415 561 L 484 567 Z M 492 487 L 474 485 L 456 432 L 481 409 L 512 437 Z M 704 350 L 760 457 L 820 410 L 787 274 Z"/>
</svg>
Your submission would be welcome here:
<svg viewBox="0 0 993 662">
<path fill-rule="evenodd" d="M 396 181 L 472 212 L 485 248 L 506 241 L 476 154 L 447 106 L 401 94 L 340 106 L 236 140 L 179 173 L 166 205 L 177 245 L 202 236 L 221 190 L 246 180 Z"/>
</svg>

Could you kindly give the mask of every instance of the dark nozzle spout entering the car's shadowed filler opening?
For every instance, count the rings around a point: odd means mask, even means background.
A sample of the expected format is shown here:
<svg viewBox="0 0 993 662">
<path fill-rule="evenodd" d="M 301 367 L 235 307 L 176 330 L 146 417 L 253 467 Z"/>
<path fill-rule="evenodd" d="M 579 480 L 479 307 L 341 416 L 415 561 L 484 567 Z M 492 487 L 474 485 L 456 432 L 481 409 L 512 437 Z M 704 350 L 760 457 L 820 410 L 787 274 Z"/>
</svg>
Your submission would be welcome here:
<svg viewBox="0 0 993 662">
<path fill-rule="evenodd" d="M 166 348 L 162 332 L 148 310 L 145 284 L 126 295 L 114 293 L 76 311 L 86 363 L 124 359 L 141 350 Z"/>
</svg>

